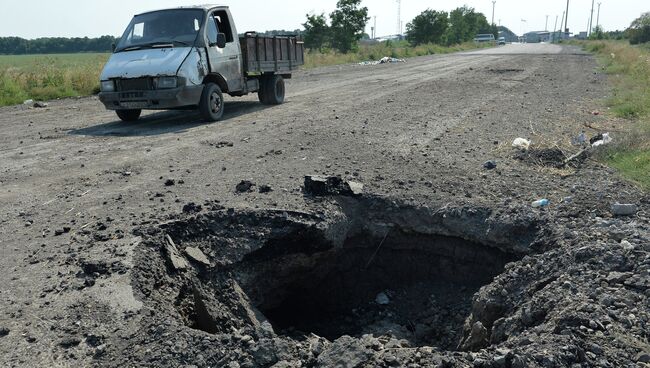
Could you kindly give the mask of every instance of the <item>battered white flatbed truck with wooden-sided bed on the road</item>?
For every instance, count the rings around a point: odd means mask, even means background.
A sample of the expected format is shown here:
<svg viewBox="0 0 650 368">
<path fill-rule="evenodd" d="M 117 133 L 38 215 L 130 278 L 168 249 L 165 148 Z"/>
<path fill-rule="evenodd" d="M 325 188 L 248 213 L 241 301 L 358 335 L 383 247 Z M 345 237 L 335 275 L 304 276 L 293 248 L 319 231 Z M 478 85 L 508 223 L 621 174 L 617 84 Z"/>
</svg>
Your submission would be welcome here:
<svg viewBox="0 0 650 368">
<path fill-rule="evenodd" d="M 99 100 L 126 122 L 142 110 L 173 109 L 198 109 L 217 121 L 224 94 L 257 93 L 263 104 L 282 104 L 284 80 L 303 64 L 299 37 L 239 35 L 227 6 L 151 11 L 133 17 L 113 46 Z"/>
</svg>

